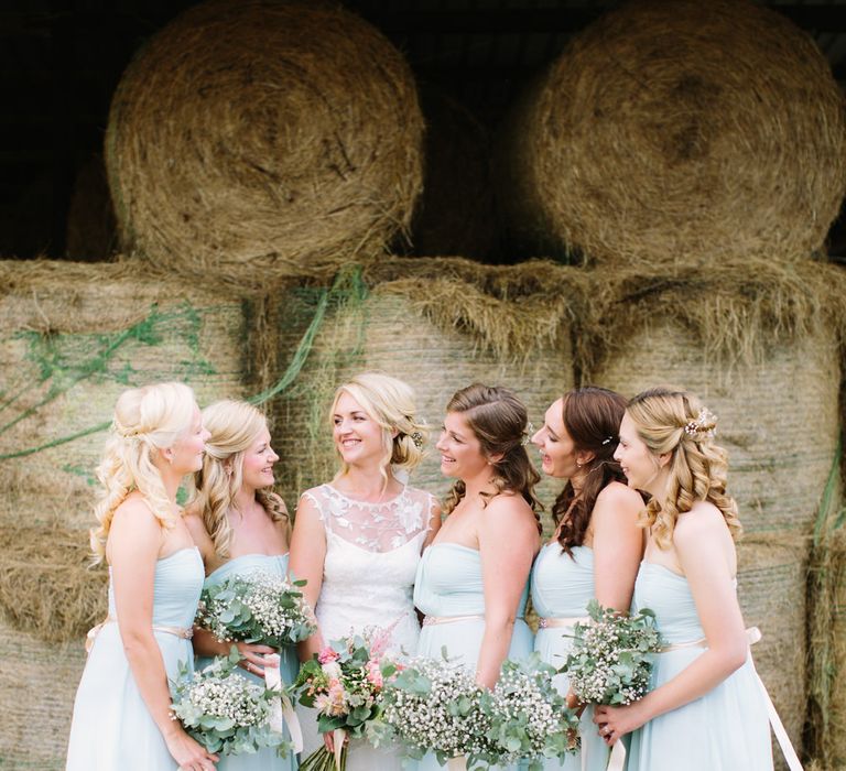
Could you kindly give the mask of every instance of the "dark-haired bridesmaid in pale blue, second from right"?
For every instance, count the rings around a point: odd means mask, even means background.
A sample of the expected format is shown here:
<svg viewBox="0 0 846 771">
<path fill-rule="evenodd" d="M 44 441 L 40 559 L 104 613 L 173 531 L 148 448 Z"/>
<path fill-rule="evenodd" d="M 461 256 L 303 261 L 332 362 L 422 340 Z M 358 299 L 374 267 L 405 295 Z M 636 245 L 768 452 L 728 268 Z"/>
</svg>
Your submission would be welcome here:
<svg viewBox="0 0 846 771">
<path fill-rule="evenodd" d="M 614 460 L 617 432 L 626 400 L 604 388 L 571 391 L 550 406 L 543 427 L 532 437 L 541 450 L 543 471 L 566 479 L 552 508 L 555 533 L 532 571 L 532 604 L 541 616 L 534 650 L 553 666 L 562 666 L 572 648 L 573 623 L 587 616 L 596 597 L 609 608 L 628 612 L 634 577 L 643 554 L 638 513 L 643 499 L 626 487 Z M 567 680 L 558 675 L 562 693 Z M 572 706 L 576 699 L 568 697 Z M 605 771 L 608 748 L 592 723 L 582 716 L 582 752 L 544 761 L 544 769 Z"/>
</svg>

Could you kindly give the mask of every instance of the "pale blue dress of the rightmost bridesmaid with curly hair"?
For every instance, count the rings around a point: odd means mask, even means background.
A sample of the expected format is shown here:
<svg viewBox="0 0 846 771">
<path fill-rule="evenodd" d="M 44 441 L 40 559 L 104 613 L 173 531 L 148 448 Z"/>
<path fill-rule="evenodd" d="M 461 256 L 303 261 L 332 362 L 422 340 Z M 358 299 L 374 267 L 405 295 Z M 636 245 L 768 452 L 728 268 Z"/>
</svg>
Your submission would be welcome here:
<svg viewBox="0 0 846 771">
<path fill-rule="evenodd" d="M 670 645 L 704 639 L 690 585 L 662 565 L 643 562 L 634 606 L 655 611 Z M 690 645 L 655 656 L 652 687 L 688 666 L 705 648 Z M 631 737 L 628 771 L 772 771 L 767 703 L 751 655 L 704 696 L 659 715 Z"/>
</svg>

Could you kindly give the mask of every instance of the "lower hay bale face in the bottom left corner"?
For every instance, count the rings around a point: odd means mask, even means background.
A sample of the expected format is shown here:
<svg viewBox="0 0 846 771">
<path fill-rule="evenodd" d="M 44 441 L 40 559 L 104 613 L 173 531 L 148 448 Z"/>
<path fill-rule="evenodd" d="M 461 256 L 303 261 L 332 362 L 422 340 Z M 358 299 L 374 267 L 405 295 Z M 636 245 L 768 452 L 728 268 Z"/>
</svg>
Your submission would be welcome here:
<svg viewBox="0 0 846 771">
<path fill-rule="evenodd" d="M 0 620 L 0 768 L 65 768 L 74 697 L 84 667 L 82 640 L 45 644 Z"/>
</svg>

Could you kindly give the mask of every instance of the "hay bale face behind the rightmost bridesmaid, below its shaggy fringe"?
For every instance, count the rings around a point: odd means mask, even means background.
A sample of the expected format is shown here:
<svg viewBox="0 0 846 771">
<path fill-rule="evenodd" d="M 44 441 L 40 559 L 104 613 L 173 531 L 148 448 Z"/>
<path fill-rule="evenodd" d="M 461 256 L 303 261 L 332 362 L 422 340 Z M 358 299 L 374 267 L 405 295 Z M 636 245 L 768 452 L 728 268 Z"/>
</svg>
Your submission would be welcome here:
<svg viewBox="0 0 846 771">
<path fill-rule="evenodd" d="M 630 328 L 589 379 L 627 397 L 664 383 L 698 394 L 719 419 L 745 531 L 807 535 L 836 463 L 838 361 L 835 335 L 817 330 L 728 367 L 693 332 L 655 314 Z"/>
</svg>

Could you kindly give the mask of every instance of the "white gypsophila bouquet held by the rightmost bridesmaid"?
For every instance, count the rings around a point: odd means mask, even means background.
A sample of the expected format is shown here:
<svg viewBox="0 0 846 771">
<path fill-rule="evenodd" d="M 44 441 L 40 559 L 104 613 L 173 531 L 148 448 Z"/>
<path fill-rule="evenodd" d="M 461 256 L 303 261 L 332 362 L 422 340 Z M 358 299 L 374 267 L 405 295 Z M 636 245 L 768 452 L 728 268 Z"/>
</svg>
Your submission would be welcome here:
<svg viewBox="0 0 846 771">
<path fill-rule="evenodd" d="M 655 615 L 641 608 L 622 616 L 595 599 L 587 606 L 589 623 L 574 627 L 575 642 L 562 667 L 583 703 L 626 705 L 649 691 L 652 654 L 661 649 Z"/>
</svg>

